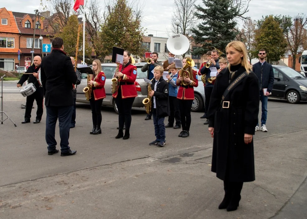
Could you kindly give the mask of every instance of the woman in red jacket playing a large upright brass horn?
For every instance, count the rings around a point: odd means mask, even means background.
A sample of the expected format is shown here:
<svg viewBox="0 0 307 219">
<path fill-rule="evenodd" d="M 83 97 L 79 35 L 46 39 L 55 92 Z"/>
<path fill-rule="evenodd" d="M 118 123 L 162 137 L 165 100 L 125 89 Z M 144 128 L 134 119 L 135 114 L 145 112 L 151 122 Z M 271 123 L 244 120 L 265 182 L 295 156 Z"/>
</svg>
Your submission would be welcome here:
<svg viewBox="0 0 307 219">
<path fill-rule="evenodd" d="M 186 64 L 186 58 L 182 59 L 182 64 Z M 191 126 L 191 106 L 194 100 L 194 88 L 198 86 L 198 80 L 196 77 L 197 72 L 192 70 L 192 67 L 187 69 L 189 72 L 187 77 L 180 77 L 180 74 L 177 76 L 176 84 L 179 87 L 177 99 L 179 99 L 179 110 L 180 110 L 180 119 L 182 131 L 178 137 L 188 137 L 190 135 L 190 126 Z M 187 83 L 188 85 L 182 85 L 182 82 Z"/>
</svg>

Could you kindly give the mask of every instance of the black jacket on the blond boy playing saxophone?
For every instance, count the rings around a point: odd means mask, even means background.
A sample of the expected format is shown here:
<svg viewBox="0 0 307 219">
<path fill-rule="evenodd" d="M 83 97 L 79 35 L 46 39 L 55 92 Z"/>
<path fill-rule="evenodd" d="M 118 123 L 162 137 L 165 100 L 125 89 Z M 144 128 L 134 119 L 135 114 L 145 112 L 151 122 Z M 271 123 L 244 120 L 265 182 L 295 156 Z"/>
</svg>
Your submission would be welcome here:
<svg viewBox="0 0 307 219">
<path fill-rule="evenodd" d="M 157 117 L 162 118 L 169 116 L 170 109 L 168 104 L 168 82 L 166 82 L 163 77 L 160 77 L 159 81 L 153 80 L 151 84 L 151 90 L 154 91 L 154 86 L 157 84 L 154 96 L 151 97 L 151 108 L 154 109 L 154 97 L 156 99 L 156 113 Z"/>
</svg>

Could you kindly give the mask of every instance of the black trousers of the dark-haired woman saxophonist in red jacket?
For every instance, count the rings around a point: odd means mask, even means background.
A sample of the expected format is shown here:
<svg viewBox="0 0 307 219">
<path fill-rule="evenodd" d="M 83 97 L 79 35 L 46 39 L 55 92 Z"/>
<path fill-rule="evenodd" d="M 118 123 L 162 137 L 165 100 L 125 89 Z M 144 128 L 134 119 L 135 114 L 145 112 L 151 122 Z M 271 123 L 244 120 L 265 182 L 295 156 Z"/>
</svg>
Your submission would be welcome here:
<svg viewBox="0 0 307 219">
<path fill-rule="evenodd" d="M 131 109 L 135 97 L 122 99 L 120 95 L 117 95 L 115 103 L 118 110 L 118 124 L 119 129 L 124 128 L 126 125 L 126 130 L 130 129 L 131 125 Z"/>
</svg>

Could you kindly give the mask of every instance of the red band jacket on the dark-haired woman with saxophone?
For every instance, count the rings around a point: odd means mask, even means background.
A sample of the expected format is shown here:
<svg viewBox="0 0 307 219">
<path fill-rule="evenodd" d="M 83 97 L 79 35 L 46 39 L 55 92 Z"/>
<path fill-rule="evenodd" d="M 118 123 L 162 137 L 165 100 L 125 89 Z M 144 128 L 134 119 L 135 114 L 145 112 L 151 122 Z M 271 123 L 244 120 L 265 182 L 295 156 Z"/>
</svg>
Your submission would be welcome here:
<svg viewBox="0 0 307 219">
<path fill-rule="evenodd" d="M 116 92 L 112 96 L 116 98 L 118 93 L 120 93 L 122 99 L 138 96 L 134 84 L 137 76 L 136 66 L 127 63 L 126 66 L 123 67 L 123 65 L 120 64 L 118 70 L 123 73 L 124 76 L 120 77 L 119 87 L 117 87 Z"/>
</svg>

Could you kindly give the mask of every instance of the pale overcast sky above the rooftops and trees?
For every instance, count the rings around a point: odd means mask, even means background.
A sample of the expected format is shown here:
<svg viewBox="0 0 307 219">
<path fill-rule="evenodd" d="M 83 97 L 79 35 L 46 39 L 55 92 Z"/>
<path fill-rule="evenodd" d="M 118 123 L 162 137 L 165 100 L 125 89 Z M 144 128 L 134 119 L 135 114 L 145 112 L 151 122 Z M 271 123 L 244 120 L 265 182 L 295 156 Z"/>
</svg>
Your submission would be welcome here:
<svg viewBox="0 0 307 219">
<path fill-rule="evenodd" d="M 142 26 L 147 29 L 145 35 L 168 37 L 167 30 L 170 31 L 171 28 L 174 0 L 140 0 L 140 2 L 143 1 L 144 21 Z M 104 0 L 101 2 L 103 5 Z M 198 2 L 202 4 L 201 0 Z M 7 10 L 14 12 L 34 13 L 34 9 L 40 9 L 40 0 L 0 0 L 0 7 L 6 7 Z M 306 8 L 307 1 L 303 0 L 251 0 L 247 16 L 253 20 L 270 14 L 295 16 L 303 13 Z"/>
</svg>

